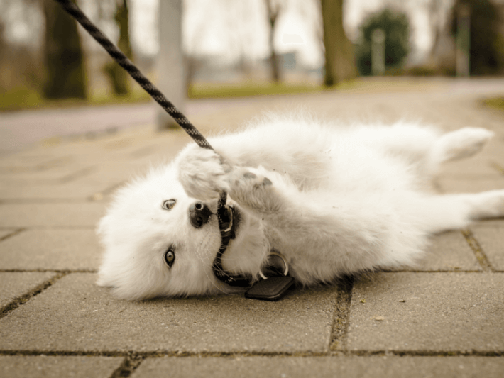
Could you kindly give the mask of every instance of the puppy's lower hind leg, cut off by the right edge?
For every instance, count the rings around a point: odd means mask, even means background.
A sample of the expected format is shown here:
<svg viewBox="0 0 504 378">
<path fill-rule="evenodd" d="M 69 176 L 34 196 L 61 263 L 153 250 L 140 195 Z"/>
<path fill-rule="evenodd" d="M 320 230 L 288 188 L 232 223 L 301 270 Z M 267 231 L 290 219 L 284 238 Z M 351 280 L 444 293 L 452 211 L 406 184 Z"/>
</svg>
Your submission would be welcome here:
<svg viewBox="0 0 504 378">
<path fill-rule="evenodd" d="M 445 194 L 412 201 L 413 216 L 427 233 L 464 228 L 471 221 L 504 217 L 504 189 L 477 194 Z M 411 209 L 411 207 L 410 207 Z"/>
</svg>

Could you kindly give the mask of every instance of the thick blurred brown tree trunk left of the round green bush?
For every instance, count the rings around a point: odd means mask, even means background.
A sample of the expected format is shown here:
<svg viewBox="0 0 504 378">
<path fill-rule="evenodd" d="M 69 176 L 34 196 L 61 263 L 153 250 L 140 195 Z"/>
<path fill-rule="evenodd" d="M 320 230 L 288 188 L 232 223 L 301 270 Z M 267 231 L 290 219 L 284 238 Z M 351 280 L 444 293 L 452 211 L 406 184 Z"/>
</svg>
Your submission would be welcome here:
<svg viewBox="0 0 504 378">
<path fill-rule="evenodd" d="M 326 58 L 324 85 L 331 87 L 356 76 L 354 47 L 343 28 L 343 0 L 321 1 Z"/>
</svg>

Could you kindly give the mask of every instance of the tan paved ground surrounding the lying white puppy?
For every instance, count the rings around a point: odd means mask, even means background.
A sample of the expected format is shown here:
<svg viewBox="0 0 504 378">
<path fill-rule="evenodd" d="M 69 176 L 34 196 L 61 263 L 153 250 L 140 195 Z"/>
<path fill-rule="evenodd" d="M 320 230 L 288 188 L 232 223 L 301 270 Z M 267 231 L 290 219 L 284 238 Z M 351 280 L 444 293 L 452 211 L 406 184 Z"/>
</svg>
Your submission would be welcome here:
<svg viewBox="0 0 504 378">
<path fill-rule="evenodd" d="M 263 111 L 306 109 L 342 123 L 485 127 L 496 134 L 487 148 L 434 183 L 474 192 L 504 189 L 504 111 L 481 105 L 495 95 L 504 79 L 371 80 L 214 101 L 192 122 L 212 135 Z M 62 111 L 60 122 L 72 116 Z M 72 134 L 0 157 L 0 377 L 504 376 L 504 219 L 434 236 L 415 268 L 278 302 L 122 301 L 94 284 L 94 228 L 117 187 L 191 140 L 152 123 Z"/>
</svg>

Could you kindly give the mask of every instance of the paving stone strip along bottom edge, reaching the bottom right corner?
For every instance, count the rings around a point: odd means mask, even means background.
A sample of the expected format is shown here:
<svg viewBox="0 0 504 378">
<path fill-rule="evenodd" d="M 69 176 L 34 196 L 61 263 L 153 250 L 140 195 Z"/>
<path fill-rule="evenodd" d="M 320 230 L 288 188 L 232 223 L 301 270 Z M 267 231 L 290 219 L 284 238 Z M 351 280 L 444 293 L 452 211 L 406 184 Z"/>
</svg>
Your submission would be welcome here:
<svg viewBox="0 0 504 378">
<path fill-rule="evenodd" d="M 500 378 L 504 357 L 160 357 L 132 378 L 194 377 L 488 377 Z"/>
</svg>

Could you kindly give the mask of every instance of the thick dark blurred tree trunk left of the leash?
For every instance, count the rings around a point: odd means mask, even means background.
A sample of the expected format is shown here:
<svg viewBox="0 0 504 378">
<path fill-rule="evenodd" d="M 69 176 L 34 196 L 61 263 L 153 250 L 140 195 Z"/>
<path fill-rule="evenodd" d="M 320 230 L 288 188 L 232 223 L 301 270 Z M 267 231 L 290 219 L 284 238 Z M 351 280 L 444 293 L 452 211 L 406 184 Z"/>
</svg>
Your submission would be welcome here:
<svg viewBox="0 0 504 378">
<path fill-rule="evenodd" d="M 77 22 L 54 0 L 43 0 L 47 99 L 87 97 L 84 53 Z"/>
</svg>

